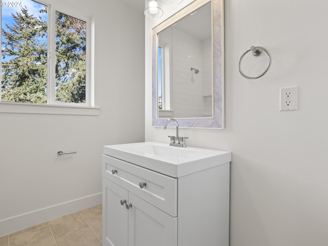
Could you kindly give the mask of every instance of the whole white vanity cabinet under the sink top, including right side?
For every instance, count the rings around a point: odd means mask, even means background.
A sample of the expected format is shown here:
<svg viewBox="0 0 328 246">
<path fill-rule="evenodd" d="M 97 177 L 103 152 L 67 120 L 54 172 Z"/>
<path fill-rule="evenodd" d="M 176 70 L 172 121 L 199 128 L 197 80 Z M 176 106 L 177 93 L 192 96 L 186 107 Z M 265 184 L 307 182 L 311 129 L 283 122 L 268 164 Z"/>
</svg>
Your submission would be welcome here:
<svg viewBox="0 0 328 246">
<path fill-rule="evenodd" d="M 109 154 L 103 155 L 103 245 L 229 246 L 230 152 L 222 152 L 222 163 L 200 160 L 204 169 L 190 163 L 197 171 L 171 176 L 142 167 L 138 158 L 136 165 Z"/>
</svg>

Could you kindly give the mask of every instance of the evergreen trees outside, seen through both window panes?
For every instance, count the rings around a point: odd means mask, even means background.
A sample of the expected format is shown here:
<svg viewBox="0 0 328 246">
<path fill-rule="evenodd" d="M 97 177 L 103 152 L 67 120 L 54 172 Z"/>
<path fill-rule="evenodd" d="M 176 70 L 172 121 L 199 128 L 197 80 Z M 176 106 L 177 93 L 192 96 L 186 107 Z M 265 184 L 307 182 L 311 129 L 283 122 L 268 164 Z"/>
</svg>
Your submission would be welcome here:
<svg viewBox="0 0 328 246">
<path fill-rule="evenodd" d="M 2 100 L 47 103 L 47 22 L 42 17 L 12 13 L 13 25 L 2 29 Z M 47 9 L 40 12 L 47 12 Z M 55 99 L 86 101 L 86 23 L 56 12 Z"/>
</svg>

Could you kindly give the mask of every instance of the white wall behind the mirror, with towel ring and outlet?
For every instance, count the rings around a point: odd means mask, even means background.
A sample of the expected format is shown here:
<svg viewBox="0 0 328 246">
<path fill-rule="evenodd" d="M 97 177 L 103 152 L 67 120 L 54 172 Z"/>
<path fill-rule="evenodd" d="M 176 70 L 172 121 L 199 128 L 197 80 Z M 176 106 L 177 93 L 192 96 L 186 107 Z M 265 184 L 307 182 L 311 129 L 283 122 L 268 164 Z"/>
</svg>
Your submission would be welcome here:
<svg viewBox="0 0 328 246">
<path fill-rule="evenodd" d="M 180 135 L 190 146 L 233 153 L 231 246 L 327 245 L 327 8 L 326 1 L 225 3 L 226 129 Z M 146 19 L 146 140 L 168 142 L 174 132 L 152 127 L 150 48 L 150 29 L 173 12 L 167 7 L 160 20 Z M 238 71 L 252 45 L 273 57 L 257 80 Z M 299 110 L 280 112 L 279 88 L 289 86 L 299 87 Z"/>
</svg>

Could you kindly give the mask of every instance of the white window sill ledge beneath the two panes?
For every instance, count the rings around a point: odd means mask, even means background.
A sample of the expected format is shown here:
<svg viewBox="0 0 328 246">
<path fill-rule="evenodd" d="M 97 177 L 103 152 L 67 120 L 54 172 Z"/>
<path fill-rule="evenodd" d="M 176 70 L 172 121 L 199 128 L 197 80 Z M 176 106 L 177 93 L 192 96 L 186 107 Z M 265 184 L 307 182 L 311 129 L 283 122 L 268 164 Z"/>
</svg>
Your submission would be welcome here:
<svg viewBox="0 0 328 246">
<path fill-rule="evenodd" d="M 0 113 L 97 116 L 99 108 L 0 102 Z"/>
</svg>

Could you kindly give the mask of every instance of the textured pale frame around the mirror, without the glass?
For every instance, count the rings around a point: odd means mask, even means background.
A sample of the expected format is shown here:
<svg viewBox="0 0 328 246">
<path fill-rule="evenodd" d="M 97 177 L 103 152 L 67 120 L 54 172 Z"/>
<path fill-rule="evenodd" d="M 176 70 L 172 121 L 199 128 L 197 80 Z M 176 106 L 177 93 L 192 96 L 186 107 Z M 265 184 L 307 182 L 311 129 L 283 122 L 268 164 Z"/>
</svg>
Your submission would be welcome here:
<svg viewBox="0 0 328 246">
<path fill-rule="evenodd" d="M 158 119 L 157 96 L 157 46 L 158 33 L 179 19 L 187 16 L 211 0 L 195 0 L 179 12 L 152 29 L 153 56 L 153 126 L 163 127 L 166 119 Z M 224 128 L 224 28 L 223 0 L 212 0 L 212 51 L 213 51 L 213 117 L 211 118 L 178 118 L 179 127 L 183 128 Z"/>
</svg>

